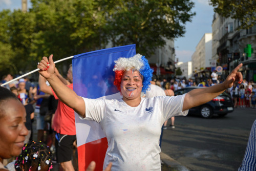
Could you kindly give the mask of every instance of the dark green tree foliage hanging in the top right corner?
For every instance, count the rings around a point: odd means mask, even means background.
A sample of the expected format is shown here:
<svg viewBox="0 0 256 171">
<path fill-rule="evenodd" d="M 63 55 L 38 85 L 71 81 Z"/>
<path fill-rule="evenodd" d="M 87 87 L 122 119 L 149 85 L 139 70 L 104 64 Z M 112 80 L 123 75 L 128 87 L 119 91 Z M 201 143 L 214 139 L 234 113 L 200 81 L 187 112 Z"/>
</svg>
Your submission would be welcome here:
<svg viewBox="0 0 256 171">
<path fill-rule="evenodd" d="M 255 0 L 210 0 L 209 4 L 219 15 L 238 19 L 238 29 L 248 29 L 256 24 Z"/>
</svg>

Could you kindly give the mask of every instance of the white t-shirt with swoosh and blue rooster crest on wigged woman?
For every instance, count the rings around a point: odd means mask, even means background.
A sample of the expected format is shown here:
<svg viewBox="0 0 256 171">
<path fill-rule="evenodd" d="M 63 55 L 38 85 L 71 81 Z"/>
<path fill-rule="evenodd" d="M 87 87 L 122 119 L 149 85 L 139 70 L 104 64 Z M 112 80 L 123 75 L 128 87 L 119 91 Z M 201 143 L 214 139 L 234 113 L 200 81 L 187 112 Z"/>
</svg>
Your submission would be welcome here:
<svg viewBox="0 0 256 171">
<path fill-rule="evenodd" d="M 84 99 L 86 118 L 100 123 L 108 139 L 103 168 L 161 170 L 159 138 L 165 120 L 182 112 L 185 94 L 142 98 L 137 107 L 122 99 Z"/>
</svg>

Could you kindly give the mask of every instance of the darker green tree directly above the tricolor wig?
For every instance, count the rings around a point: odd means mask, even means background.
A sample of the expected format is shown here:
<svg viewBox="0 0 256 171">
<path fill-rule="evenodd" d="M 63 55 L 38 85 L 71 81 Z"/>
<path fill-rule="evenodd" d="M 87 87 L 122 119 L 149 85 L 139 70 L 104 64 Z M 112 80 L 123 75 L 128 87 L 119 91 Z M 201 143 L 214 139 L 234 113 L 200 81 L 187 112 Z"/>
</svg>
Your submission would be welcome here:
<svg viewBox="0 0 256 171">
<path fill-rule="evenodd" d="M 136 44 L 138 53 L 150 57 L 164 38 L 183 36 L 185 23 L 195 15 L 189 0 L 105 1 L 109 39 L 114 46 Z"/>
</svg>

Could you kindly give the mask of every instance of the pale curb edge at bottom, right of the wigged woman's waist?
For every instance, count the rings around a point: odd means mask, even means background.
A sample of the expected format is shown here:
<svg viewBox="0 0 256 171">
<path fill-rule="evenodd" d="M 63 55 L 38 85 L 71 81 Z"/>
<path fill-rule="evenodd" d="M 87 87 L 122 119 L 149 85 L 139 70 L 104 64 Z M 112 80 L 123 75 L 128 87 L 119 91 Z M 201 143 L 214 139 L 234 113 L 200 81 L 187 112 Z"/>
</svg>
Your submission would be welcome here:
<svg viewBox="0 0 256 171">
<path fill-rule="evenodd" d="M 172 167 L 174 170 L 190 171 L 186 166 L 182 165 L 181 163 L 169 157 L 163 152 L 160 153 L 160 158 L 165 165 L 167 165 L 168 167 Z"/>
</svg>

